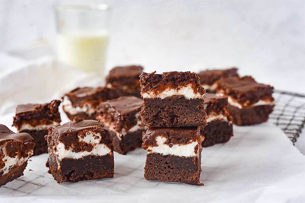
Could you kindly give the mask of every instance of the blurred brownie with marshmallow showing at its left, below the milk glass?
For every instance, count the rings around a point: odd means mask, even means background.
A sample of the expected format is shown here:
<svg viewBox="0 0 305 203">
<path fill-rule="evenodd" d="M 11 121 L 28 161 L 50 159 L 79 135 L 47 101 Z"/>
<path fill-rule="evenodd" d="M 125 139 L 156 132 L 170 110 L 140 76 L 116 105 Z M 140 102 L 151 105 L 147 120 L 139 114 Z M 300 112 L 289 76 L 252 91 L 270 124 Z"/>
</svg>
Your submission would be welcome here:
<svg viewBox="0 0 305 203">
<path fill-rule="evenodd" d="M 74 117 L 95 119 L 95 108 L 103 101 L 118 98 L 120 90 L 107 87 L 76 88 L 63 96 L 63 111 L 70 120 Z"/>
</svg>

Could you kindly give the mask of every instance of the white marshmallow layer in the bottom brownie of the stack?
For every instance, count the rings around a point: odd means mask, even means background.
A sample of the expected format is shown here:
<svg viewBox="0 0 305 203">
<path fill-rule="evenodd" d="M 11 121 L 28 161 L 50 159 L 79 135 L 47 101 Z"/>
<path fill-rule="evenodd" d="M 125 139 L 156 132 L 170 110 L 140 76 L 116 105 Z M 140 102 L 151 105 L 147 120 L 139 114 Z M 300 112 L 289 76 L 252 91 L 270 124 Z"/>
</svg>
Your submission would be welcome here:
<svg viewBox="0 0 305 203">
<path fill-rule="evenodd" d="M 160 153 L 163 155 L 175 155 L 180 157 L 197 157 L 199 154 L 199 143 L 192 141 L 188 144 L 173 144 L 172 147 L 165 144 L 166 138 L 162 136 L 156 137 L 158 146 L 149 146 L 147 153 Z M 195 148 L 198 150 L 195 150 Z"/>
</svg>

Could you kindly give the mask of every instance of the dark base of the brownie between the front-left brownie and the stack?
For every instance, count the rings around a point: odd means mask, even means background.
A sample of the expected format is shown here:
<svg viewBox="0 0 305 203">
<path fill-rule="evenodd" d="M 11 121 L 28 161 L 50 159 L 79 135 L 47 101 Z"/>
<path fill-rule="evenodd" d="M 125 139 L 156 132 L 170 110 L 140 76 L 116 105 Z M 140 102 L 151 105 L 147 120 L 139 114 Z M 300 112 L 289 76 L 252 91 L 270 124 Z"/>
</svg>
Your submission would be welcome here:
<svg viewBox="0 0 305 203">
<path fill-rule="evenodd" d="M 142 133 L 145 130 L 137 130 L 135 132 L 129 132 L 126 135 L 122 136 L 121 139 L 118 138 L 117 134 L 111 130 L 109 133 L 113 140 L 113 149 L 117 153 L 126 155 L 127 152 L 135 150 L 138 147 L 142 146 Z"/>
</svg>

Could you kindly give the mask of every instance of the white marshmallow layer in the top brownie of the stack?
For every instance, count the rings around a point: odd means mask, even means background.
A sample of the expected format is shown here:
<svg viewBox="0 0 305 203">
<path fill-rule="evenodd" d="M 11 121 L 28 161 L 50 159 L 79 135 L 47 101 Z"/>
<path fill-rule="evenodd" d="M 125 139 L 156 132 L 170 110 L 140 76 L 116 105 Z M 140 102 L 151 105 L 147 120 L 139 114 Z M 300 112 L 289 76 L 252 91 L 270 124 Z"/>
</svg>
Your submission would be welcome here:
<svg viewBox="0 0 305 203">
<path fill-rule="evenodd" d="M 143 98 L 167 98 L 171 96 L 177 96 L 177 95 L 182 95 L 187 99 L 194 99 L 194 98 L 203 98 L 204 94 L 200 94 L 199 92 L 195 93 L 194 90 L 192 89 L 191 84 L 185 86 L 185 87 L 179 87 L 175 89 L 166 89 L 159 94 L 154 93 L 153 91 L 147 91 L 144 93 L 141 93 Z"/>
</svg>

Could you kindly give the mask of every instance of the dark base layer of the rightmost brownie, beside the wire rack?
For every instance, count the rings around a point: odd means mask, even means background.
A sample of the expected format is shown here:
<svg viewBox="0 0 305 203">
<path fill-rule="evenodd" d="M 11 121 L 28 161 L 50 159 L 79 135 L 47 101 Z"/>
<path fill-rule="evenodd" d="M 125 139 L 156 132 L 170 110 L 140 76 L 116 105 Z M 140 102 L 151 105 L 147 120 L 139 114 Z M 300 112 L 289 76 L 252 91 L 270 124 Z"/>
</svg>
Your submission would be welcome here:
<svg viewBox="0 0 305 203">
<path fill-rule="evenodd" d="M 273 111 L 274 105 L 259 105 L 249 108 L 237 108 L 228 105 L 230 119 L 235 125 L 249 126 L 266 122 L 269 114 Z"/>
</svg>

